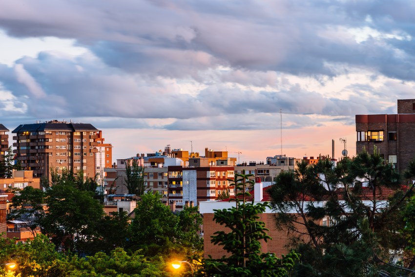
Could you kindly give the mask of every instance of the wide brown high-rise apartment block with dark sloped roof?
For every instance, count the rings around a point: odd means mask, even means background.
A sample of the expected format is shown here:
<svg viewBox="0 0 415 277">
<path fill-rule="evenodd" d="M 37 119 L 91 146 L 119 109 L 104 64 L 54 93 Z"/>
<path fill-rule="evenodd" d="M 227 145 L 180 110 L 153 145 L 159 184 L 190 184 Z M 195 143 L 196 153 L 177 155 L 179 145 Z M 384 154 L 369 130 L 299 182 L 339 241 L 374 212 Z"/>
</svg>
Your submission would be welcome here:
<svg viewBox="0 0 415 277">
<path fill-rule="evenodd" d="M 23 124 L 12 131 L 14 153 L 24 170 L 35 177 L 49 178 L 51 171 L 83 170 L 84 176 L 95 175 L 95 153 L 99 131 L 91 124 L 49 121 Z"/>
</svg>

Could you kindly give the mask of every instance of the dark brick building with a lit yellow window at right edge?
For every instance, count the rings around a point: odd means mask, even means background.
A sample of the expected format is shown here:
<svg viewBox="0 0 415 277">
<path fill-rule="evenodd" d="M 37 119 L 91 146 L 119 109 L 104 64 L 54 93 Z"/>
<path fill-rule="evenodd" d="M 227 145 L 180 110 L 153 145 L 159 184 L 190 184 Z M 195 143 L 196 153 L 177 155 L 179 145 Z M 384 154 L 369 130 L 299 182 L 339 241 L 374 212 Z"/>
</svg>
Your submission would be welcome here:
<svg viewBox="0 0 415 277">
<path fill-rule="evenodd" d="M 376 148 L 403 172 L 415 158 L 415 99 L 397 101 L 397 114 L 356 115 L 356 152 Z"/>
</svg>

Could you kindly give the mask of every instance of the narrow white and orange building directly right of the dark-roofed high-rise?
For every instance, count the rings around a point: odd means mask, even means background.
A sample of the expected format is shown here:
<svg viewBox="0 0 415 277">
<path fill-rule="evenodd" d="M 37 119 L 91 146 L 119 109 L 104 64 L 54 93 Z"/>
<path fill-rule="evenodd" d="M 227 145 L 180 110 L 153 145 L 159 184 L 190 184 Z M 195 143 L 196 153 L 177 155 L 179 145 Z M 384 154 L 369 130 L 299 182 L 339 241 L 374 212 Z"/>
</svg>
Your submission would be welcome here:
<svg viewBox="0 0 415 277">
<path fill-rule="evenodd" d="M 100 186 L 104 186 L 104 178 L 106 177 L 105 168 L 112 167 L 112 145 L 110 143 L 104 143 L 104 137 L 102 131 L 97 132 L 98 138 L 95 140 L 97 145 L 97 152 L 95 153 L 95 176 L 97 183 Z"/>
</svg>

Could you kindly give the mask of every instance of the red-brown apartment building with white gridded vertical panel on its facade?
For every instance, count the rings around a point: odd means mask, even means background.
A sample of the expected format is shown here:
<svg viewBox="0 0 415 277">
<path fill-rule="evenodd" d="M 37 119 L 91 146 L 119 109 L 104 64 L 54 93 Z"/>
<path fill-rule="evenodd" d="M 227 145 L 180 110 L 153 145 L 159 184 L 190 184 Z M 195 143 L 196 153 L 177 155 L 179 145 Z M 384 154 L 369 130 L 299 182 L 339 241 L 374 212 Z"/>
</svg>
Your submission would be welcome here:
<svg viewBox="0 0 415 277">
<path fill-rule="evenodd" d="M 168 167 L 168 200 L 176 209 L 187 203 L 198 206 L 200 201 L 215 200 L 221 191 L 233 194 L 233 166 L 210 166 L 208 158 L 191 158 L 189 166 Z"/>
</svg>

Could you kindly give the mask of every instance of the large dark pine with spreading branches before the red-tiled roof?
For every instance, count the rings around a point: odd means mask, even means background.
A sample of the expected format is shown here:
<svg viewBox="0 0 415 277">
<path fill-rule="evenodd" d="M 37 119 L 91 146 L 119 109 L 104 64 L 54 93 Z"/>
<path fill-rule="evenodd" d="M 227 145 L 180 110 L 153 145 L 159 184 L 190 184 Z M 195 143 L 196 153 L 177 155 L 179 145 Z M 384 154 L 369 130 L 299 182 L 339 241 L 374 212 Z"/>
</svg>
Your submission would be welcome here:
<svg viewBox="0 0 415 277">
<path fill-rule="evenodd" d="M 302 255 L 296 276 L 377 276 L 405 248 L 399 211 L 411 190 L 377 151 L 282 172 L 269 193 L 277 227 Z"/>
</svg>

